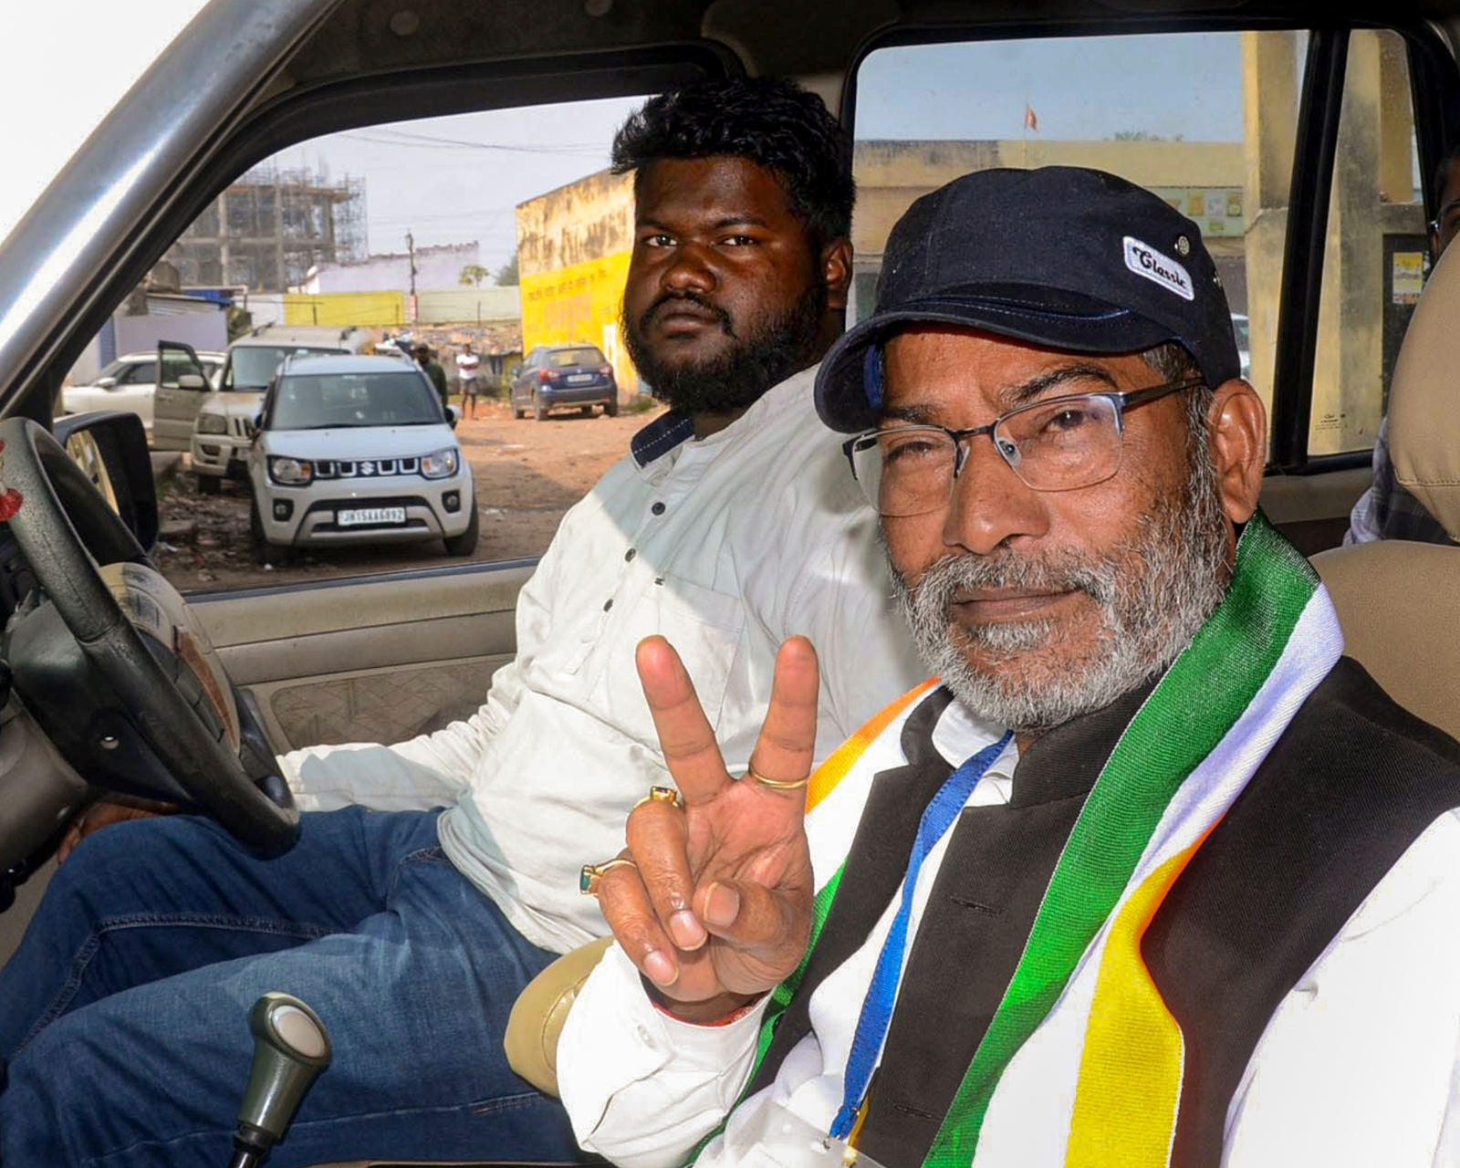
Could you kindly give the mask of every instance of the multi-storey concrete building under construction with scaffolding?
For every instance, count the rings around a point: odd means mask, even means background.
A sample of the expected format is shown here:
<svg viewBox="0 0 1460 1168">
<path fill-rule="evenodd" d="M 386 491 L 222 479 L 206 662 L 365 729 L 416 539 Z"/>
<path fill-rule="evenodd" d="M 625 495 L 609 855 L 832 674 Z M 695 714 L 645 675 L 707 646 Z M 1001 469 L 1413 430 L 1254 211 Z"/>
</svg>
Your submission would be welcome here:
<svg viewBox="0 0 1460 1168">
<path fill-rule="evenodd" d="M 184 286 L 286 292 L 365 256 L 365 180 L 261 165 L 213 200 L 168 260 Z"/>
</svg>

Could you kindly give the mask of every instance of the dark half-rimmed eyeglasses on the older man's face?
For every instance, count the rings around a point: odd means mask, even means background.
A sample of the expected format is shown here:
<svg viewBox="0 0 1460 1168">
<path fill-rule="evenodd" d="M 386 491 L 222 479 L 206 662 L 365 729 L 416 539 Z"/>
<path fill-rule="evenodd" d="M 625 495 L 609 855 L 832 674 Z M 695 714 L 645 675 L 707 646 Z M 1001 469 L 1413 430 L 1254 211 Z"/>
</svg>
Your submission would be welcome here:
<svg viewBox="0 0 1460 1168">
<path fill-rule="evenodd" d="M 888 426 L 858 434 L 845 451 L 867 501 L 895 518 L 946 507 L 968 464 L 968 439 L 980 434 L 1032 491 L 1076 491 L 1120 470 L 1127 409 L 1204 384 L 1187 378 L 1145 390 L 1051 397 L 971 429 Z"/>
</svg>

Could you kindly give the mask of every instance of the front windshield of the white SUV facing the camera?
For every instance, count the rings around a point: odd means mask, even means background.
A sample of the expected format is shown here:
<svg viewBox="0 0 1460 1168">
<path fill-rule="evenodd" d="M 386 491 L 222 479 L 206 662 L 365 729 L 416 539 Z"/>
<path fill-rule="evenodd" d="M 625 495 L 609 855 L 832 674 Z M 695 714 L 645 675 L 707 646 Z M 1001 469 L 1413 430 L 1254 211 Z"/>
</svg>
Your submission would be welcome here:
<svg viewBox="0 0 1460 1168">
<path fill-rule="evenodd" d="M 439 423 L 439 399 L 419 374 L 301 374 L 279 381 L 269 429 Z"/>
</svg>

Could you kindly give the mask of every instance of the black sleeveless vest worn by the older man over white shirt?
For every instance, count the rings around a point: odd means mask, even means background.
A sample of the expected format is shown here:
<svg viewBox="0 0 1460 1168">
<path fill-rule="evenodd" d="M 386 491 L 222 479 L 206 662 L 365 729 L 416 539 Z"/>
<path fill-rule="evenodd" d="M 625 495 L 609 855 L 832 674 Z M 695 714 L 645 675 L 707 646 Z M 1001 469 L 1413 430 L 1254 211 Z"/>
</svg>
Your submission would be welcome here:
<svg viewBox="0 0 1460 1168">
<path fill-rule="evenodd" d="M 1150 692 L 1038 739 L 1007 806 L 959 816 L 908 956 L 860 1148 L 917 1168 L 1023 950 L 1060 850 L 1120 733 Z M 866 940 L 907 870 L 918 819 L 952 772 L 930 736 L 939 691 L 877 774 L 800 993 L 750 1091 L 810 1031 L 807 1002 Z M 1174 1165 L 1216 1165 L 1226 1107 L 1278 1004 L 1403 851 L 1460 807 L 1460 745 L 1343 658 L 1167 895 L 1142 953 L 1186 1037 Z M 847 895 L 856 889 L 857 895 Z M 1133 1101 L 1133 1107 L 1142 1105 Z"/>
</svg>

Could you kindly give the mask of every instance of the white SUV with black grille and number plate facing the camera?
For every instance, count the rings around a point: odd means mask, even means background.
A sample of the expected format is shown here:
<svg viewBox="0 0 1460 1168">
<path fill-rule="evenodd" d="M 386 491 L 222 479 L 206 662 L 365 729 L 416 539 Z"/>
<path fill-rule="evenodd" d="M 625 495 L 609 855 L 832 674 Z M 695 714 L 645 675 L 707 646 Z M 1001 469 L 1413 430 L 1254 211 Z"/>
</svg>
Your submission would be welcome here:
<svg viewBox="0 0 1460 1168">
<path fill-rule="evenodd" d="M 441 399 L 388 356 L 291 358 L 264 394 L 248 451 L 254 553 L 439 539 L 476 550 L 472 469 Z"/>
</svg>

